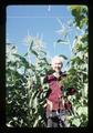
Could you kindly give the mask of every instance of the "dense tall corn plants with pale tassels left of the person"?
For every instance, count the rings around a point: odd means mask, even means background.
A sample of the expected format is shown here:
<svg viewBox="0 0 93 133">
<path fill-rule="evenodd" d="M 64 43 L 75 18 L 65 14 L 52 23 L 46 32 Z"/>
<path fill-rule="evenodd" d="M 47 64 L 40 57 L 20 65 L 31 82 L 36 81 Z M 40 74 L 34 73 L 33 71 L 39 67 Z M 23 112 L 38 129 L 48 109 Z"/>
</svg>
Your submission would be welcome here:
<svg viewBox="0 0 93 133">
<path fill-rule="evenodd" d="M 48 85 L 42 84 L 42 79 L 51 68 L 45 58 L 46 53 L 42 48 L 33 47 L 34 44 L 37 41 L 32 38 L 24 57 L 18 54 L 13 45 L 7 45 L 8 126 L 43 126 L 43 104 Z M 32 54 L 35 64 L 28 60 Z M 42 89 L 43 93 L 41 93 Z"/>
</svg>

